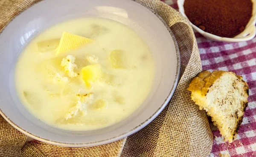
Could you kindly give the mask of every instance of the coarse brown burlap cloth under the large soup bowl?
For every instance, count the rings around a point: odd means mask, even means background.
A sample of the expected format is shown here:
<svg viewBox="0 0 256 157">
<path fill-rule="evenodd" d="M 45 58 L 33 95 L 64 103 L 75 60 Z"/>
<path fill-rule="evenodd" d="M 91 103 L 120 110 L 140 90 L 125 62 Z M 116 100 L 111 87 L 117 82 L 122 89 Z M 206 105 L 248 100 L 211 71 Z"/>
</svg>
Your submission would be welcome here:
<svg viewBox="0 0 256 157">
<path fill-rule="evenodd" d="M 0 32 L 20 12 L 40 0 L 0 0 Z M 0 157 L 208 157 L 212 131 L 204 111 L 190 100 L 186 90 L 192 77 L 202 70 L 195 35 L 188 21 L 160 0 L 135 0 L 169 25 L 177 40 L 180 80 L 172 100 L 162 113 L 141 131 L 114 143 L 90 148 L 66 148 L 38 141 L 26 142 L 0 116 Z"/>
</svg>

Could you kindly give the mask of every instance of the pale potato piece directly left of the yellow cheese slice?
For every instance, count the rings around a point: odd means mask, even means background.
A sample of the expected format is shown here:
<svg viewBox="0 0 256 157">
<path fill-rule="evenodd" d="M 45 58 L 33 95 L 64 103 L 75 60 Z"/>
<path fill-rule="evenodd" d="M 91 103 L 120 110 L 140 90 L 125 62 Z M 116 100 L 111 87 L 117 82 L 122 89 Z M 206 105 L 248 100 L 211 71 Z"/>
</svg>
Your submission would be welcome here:
<svg viewBox="0 0 256 157">
<path fill-rule="evenodd" d="M 58 47 L 60 39 L 52 39 L 47 41 L 41 41 L 37 43 L 38 50 L 40 52 L 52 51 Z"/>
</svg>

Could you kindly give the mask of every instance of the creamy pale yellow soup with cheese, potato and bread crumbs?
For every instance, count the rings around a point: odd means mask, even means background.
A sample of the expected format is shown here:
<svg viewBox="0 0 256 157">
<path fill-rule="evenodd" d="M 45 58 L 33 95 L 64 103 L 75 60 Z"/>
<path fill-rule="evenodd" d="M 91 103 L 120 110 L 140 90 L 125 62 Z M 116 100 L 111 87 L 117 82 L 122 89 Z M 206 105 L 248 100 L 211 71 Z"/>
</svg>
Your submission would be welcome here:
<svg viewBox="0 0 256 157">
<path fill-rule="evenodd" d="M 127 26 L 103 18 L 66 21 L 41 32 L 15 69 L 17 93 L 36 118 L 66 130 L 123 120 L 145 100 L 154 58 Z"/>
</svg>

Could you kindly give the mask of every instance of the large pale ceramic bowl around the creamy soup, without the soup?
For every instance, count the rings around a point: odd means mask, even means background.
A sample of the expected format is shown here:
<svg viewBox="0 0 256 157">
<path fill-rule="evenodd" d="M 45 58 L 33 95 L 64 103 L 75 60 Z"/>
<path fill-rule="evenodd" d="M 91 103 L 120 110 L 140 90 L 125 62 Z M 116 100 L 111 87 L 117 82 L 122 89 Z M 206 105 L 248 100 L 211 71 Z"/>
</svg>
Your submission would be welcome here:
<svg viewBox="0 0 256 157">
<path fill-rule="evenodd" d="M 30 114 L 17 97 L 14 69 L 17 58 L 41 30 L 77 17 L 104 17 L 137 31 L 148 43 L 156 63 L 150 94 L 131 116 L 94 131 L 66 131 Z M 180 56 L 172 32 L 150 10 L 131 0 L 45 0 L 18 15 L 0 34 L 0 114 L 29 137 L 59 146 L 96 146 L 127 137 L 150 123 L 175 91 Z"/>
</svg>

